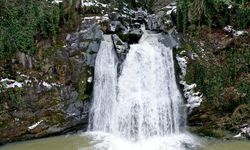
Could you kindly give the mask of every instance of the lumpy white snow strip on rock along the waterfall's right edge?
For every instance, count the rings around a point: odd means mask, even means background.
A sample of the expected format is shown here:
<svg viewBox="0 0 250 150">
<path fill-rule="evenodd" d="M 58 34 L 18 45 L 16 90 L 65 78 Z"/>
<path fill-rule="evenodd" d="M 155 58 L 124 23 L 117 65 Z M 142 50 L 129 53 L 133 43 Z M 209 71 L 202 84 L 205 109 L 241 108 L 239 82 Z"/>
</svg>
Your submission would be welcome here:
<svg viewBox="0 0 250 150">
<path fill-rule="evenodd" d="M 195 107 L 199 107 L 202 102 L 202 94 L 199 92 L 194 92 L 194 88 L 196 87 L 196 84 L 187 84 L 184 80 L 186 76 L 186 70 L 187 70 L 187 63 L 188 63 L 188 57 L 180 57 L 176 56 L 177 62 L 181 68 L 181 74 L 180 74 L 180 84 L 184 86 L 183 92 L 184 97 L 187 99 L 187 107 L 189 108 L 189 113 L 193 110 Z"/>
</svg>

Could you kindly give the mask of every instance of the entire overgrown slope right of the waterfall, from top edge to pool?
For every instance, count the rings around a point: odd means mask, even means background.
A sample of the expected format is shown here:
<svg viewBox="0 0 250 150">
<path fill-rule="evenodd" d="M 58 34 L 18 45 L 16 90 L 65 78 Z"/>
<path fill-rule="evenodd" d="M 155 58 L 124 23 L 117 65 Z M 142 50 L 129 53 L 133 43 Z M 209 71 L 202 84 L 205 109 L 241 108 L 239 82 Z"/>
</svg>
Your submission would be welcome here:
<svg viewBox="0 0 250 150">
<path fill-rule="evenodd" d="M 178 53 L 189 57 L 185 80 L 196 83 L 195 90 L 203 94 L 194 112 L 199 115 L 191 115 L 189 123 L 203 124 L 198 132 L 204 135 L 221 137 L 217 129 L 236 131 L 239 125 L 250 123 L 249 17 L 249 1 L 177 1 L 177 28 L 183 33 Z M 248 34 L 235 37 L 223 31 L 227 25 Z M 224 47 L 218 48 L 218 43 Z M 190 58 L 194 52 L 197 59 Z"/>
</svg>

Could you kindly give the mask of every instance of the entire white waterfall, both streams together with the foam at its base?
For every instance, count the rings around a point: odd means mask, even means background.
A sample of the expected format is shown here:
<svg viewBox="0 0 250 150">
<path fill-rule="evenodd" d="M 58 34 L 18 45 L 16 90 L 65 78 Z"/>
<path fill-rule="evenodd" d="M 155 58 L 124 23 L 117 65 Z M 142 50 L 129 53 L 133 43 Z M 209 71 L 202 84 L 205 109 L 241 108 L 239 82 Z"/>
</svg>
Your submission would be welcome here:
<svg viewBox="0 0 250 150">
<path fill-rule="evenodd" d="M 182 150 L 185 108 L 176 84 L 172 50 L 160 34 L 132 45 L 117 79 L 117 57 L 105 36 L 95 64 L 90 134 L 98 150 Z"/>
</svg>

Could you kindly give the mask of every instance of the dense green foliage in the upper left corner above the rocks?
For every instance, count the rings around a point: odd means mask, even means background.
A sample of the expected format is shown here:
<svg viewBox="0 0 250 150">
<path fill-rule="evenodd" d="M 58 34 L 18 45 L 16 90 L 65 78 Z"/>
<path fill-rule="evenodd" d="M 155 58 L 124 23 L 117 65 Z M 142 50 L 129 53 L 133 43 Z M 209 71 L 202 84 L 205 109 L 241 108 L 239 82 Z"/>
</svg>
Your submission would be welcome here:
<svg viewBox="0 0 250 150">
<path fill-rule="evenodd" d="M 39 40 L 55 37 L 61 24 L 74 17 L 75 9 L 68 7 L 75 8 L 75 2 L 0 0 L 0 59 L 17 51 L 33 55 Z"/>
</svg>

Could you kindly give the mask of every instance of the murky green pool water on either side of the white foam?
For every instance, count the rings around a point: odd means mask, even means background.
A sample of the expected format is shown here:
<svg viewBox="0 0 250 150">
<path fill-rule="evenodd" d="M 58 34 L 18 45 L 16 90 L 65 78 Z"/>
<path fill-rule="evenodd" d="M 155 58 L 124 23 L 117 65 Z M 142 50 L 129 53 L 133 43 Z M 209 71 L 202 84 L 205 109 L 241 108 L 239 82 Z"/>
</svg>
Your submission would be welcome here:
<svg viewBox="0 0 250 150">
<path fill-rule="evenodd" d="M 203 146 L 199 150 L 250 150 L 250 141 L 247 140 L 202 141 Z M 0 150 L 93 150 L 91 144 L 93 141 L 89 137 L 77 134 L 8 144 L 0 147 Z"/>
</svg>

